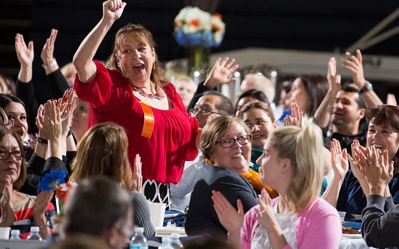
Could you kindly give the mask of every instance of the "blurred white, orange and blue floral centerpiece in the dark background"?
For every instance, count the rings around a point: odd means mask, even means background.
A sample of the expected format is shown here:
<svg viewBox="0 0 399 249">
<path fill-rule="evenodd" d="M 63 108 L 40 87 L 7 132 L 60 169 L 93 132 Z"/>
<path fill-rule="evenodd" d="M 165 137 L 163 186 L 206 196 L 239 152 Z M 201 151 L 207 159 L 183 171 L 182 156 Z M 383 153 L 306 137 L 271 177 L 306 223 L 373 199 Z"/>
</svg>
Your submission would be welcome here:
<svg viewBox="0 0 399 249">
<path fill-rule="evenodd" d="M 211 15 L 192 6 L 180 10 L 175 17 L 174 27 L 177 43 L 191 50 L 191 73 L 200 65 L 208 63 L 210 47 L 220 46 L 225 32 L 220 14 Z"/>
</svg>

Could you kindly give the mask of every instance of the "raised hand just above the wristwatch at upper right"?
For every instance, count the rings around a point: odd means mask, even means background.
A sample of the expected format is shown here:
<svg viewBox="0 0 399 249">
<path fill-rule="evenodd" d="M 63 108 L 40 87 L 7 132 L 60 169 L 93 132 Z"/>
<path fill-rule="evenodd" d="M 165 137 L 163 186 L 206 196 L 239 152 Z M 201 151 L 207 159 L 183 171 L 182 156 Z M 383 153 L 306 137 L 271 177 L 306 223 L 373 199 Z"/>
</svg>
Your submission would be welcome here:
<svg viewBox="0 0 399 249">
<path fill-rule="evenodd" d="M 346 52 L 347 59 L 342 59 L 342 66 L 352 74 L 353 82 L 362 89 L 365 86 L 366 79 L 363 72 L 363 58 L 359 49 L 356 50 L 356 56 Z"/>
</svg>

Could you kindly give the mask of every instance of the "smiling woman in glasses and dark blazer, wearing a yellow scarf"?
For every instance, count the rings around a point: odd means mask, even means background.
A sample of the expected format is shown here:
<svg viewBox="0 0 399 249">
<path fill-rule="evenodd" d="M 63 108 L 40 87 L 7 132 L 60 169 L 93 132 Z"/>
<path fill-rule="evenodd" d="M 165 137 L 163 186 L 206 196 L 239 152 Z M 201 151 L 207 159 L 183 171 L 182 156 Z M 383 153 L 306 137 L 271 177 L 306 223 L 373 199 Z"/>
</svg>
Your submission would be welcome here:
<svg viewBox="0 0 399 249">
<path fill-rule="evenodd" d="M 190 236 L 207 233 L 226 240 L 227 232 L 213 209 L 211 191 L 222 192 L 234 206 L 240 199 L 245 211 L 257 204 L 251 184 L 239 175 L 248 172 L 251 131 L 236 117 L 216 117 L 203 128 L 200 149 L 203 166 L 191 195 L 186 233 Z"/>
</svg>

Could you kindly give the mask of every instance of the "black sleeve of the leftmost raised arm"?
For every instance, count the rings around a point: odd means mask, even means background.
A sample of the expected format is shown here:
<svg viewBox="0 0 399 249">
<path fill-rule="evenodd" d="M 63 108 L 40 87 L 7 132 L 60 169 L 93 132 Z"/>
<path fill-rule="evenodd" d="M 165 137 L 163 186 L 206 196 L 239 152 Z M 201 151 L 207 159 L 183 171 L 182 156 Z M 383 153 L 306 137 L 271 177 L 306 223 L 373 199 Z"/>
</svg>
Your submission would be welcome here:
<svg viewBox="0 0 399 249">
<path fill-rule="evenodd" d="M 18 79 L 16 80 L 16 97 L 18 97 L 26 106 L 28 115 L 28 132 L 35 134 L 38 129 L 35 124 L 37 110 L 39 109 L 39 103 L 34 98 L 34 89 L 32 81 L 28 83 L 22 83 Z"/>
</svg>

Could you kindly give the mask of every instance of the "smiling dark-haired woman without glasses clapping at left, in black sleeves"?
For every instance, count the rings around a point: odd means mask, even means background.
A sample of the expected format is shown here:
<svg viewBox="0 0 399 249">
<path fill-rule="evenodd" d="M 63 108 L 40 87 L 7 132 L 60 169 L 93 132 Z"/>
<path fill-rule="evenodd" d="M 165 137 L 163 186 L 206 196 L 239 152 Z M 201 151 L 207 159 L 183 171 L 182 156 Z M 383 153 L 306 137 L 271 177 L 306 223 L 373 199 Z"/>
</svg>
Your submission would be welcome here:
<svg viewBox="0 0 399 249">
<path fill-rule="evenodd" d="M 71 136 L 72 133 L 69 129 L 72 118 L 72 106 L 75 104 L 72 91 L 73 89 L 66 91 L 66 100 L 62 101 L 63 108 L 60 104 L 57 106 L 57 101 L 48 101 L 44 106 L 40 105 L 36 121 L 37 119 L 42 120 L 41 123 L 44 126 L 48 126 L 49 129 L 39 128 L 38 141 L 34 147 L 31 147 L 25 141 L 28 131 L 28 116 L 26 106 L 15 96 L 10 94 L 0 94 L 0 107 L 4 110 L 9 128 L 15 132 L 15 134 L 18 136 L 18 139 L 21 141 L 25 156 L 24 159 L 28 162 L 26 167 L 28 169 L 26 181 L 20 187 L 20 191 L 22 193 L 36 195 L 37 184 L 39 183 L 41 176 L 48 173 L 51 169 L 69 171 L 69 161 L 67 159 L 71 160 L 74 156 L 74 151 L 76 150 L 73 137 Z M 58 101 L 61 101 L 61 99 Z M 70 106 L 66 108 L 69 103 Z M 57 107 L 61 107 L 61 127 L 59 127 L 61 128 L 61 131 L 60 134 L 57 134 L 55 137 L 52 133 L 46 132 L 47 130 L 55 130 L 55 117 L 53 117 L 53 120 L 50 120 L 46 116 L 48 120 L 44 121 L 44 112 L 49 113 L 52 112 L 52 110 L 55 112 Z M 65 144 L 66 147 L 61 146 L 60 144 Z M 59 155 L 57 156 L 54 153 L 49 153 L 49 147 L 56 147 L 56 150 L 59 152 L 57 153 Z M 69 153 L 67 153 L 67 150 Z M 68 157 L 63 158 L 65 155 Z M 54 157 L 57 157 L 57 159 Z"/>
</svg>

